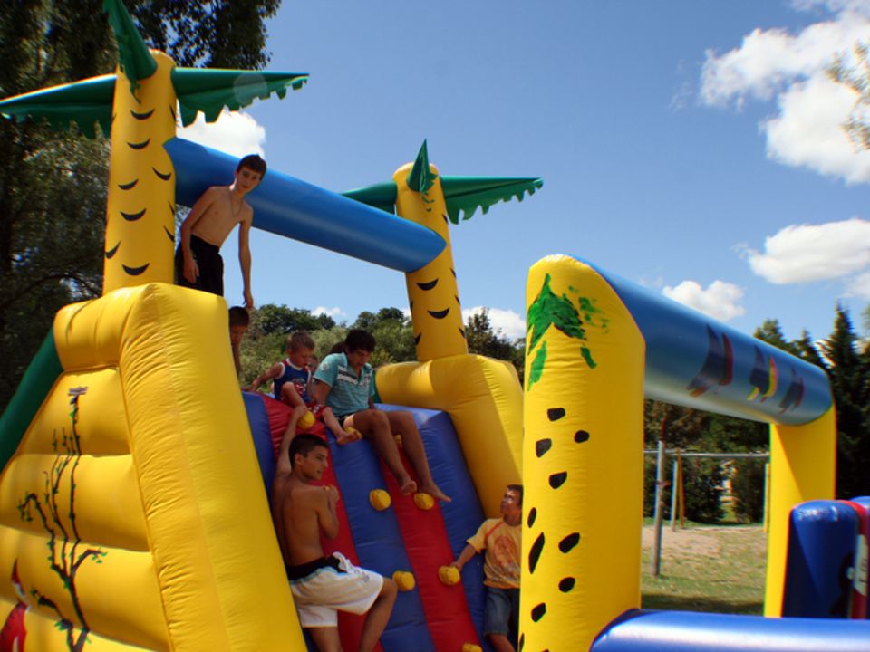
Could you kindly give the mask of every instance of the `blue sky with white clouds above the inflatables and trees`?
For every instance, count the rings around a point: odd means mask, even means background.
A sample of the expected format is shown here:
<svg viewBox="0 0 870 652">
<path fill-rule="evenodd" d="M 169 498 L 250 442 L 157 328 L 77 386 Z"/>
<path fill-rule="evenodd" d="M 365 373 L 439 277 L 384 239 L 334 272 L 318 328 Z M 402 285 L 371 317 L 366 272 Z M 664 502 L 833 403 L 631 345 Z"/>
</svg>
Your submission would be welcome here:
<svg viewBox="0 0 870 652">
<path fill-rule="evenodd" d="M 182 137 L 336 191 L 386 181 L 428 139 L 445 175 L 543 177 L 452 227 L 460 299 L 523 333 L 529 266 L 575 254 L 751 333 L 819 339 L 870 298 L 870 153 L 826 66 L 870 40 L 870 0 L 285 0 L 269 70 L 308 72 Z M 404 278 L 264 232 L 257 304 L 353 321 Z M 236 239 L 227 302 L 241 301 Z"/>
</svg>

